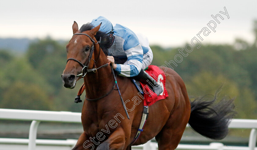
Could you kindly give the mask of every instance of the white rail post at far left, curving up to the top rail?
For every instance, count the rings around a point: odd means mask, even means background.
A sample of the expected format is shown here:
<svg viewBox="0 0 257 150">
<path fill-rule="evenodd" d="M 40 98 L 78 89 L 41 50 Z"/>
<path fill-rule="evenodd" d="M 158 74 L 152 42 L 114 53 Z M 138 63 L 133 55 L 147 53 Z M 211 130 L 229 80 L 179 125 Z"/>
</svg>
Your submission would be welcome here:
<svg viewBox="0 0 257 150">
<path fill-rule="evenodd" d="M 36 149 L 37 127 L 40 121 L 33 120 L 29 127 L 28 150 Z"/>
</svg>

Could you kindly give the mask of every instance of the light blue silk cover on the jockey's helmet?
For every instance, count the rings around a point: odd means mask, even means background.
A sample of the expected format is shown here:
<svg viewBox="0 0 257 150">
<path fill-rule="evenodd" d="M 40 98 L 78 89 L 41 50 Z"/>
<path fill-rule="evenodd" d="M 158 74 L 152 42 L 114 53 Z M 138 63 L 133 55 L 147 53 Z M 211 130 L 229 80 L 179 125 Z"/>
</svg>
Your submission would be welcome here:
<svg viewBox="0 0 257 150">
<path fill-rule="evenodd" d="M 91 22 L 92 26 L 94 27 L 98 26 L 100 23 L 102 23 L 99 29 L 100 31 L 108 33 L 112 30 L 112 23 L 103 16 L 99 16 L 98 18 L 93 19 Z"/>
</svg>

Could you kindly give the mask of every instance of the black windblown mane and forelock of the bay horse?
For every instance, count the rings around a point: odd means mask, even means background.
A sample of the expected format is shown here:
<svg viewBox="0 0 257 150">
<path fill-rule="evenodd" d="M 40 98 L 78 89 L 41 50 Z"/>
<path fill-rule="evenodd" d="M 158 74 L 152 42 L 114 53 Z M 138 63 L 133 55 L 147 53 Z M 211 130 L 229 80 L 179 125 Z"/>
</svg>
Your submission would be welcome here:
<svg viewBox="0 0 257 150">
<path fill-rule="evenodd" d="M 87 30 L 91 30 L 93 28 L 94 26 L 92 26 L 91 23 L 83 24 L 80 27 L 80 33 Z M 105 55 L 108 55 L 108 48 L 112 46 L 112 41 L 111 41 L 111 38 L 109 38 L 109 33 L 98 31 L 95 35 L 95 38 L 97 41 L 99 41 L 100 37 L 101 37 L 100 45 L 101 45 L 102 51 L 105 53 Z"/>
</svg>

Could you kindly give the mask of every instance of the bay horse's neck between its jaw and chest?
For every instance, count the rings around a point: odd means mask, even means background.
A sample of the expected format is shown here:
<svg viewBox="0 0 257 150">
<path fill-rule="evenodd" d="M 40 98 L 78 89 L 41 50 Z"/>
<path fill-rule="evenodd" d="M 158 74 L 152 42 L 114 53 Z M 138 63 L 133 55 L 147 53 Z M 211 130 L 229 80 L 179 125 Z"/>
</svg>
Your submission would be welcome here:
<svg viewBox="0 0 257 150">
<path fill-rule="evenodd" d="M 99 58 L 97 58 L 98 55 Z M 94 56 L 95 61 L 97 61 L 97 63 L 95 64 L 95 68 L 98 68 L 103 64 L 108 63 L 108 60 L 101 49 L 99 51 L 95 51 Z M 111 73 L 110 66 L 102 67 L 97 70 L 96 73 L 87 73 L 84 77 L 84 84 L 86 87 L 85 90 L 87 98 L 89 99 L 99 98 L 100 96 L 108 93 L 114 86 L 114 79 Z"/>
</svg>

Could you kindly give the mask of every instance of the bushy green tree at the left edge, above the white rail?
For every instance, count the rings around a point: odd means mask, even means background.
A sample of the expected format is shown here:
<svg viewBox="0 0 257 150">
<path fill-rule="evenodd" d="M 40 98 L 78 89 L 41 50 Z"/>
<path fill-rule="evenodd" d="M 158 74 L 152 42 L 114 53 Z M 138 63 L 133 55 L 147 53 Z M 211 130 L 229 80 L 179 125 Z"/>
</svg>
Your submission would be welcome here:
<svg viewBox="0 0 257 150">
<path fill-rule="evenodd" d="M 26 59 L 16 58 L 6 64 L 0 72 L 0 80 L 1 108 L 52 109 L 51 86 Z"/>
</svg>

